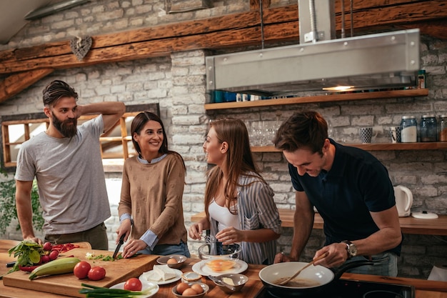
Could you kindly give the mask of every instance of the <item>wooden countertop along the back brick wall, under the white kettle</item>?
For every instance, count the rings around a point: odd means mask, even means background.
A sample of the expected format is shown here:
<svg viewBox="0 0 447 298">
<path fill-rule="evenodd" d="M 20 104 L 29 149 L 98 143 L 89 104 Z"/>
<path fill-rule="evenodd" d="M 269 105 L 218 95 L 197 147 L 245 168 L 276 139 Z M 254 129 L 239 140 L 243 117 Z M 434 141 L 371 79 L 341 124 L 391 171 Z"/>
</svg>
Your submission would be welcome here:
<svg viewBox="0 0 447 298">
<path fill-rule="evenodd" d="M 282 227 L 293 227 L 293 213 L 295 210 L 278 209 Z M 205 212 L 191 216 L 191 221 L 199 222 L 205 217 Z M 437 219 L 416 219 L 414 217 L 399 217 L 403 234 L 447 235 L 447 215 L 439 215 Z M 323 219 L 315 213 L 313 229 L 323 229 Z"/>
</svg>

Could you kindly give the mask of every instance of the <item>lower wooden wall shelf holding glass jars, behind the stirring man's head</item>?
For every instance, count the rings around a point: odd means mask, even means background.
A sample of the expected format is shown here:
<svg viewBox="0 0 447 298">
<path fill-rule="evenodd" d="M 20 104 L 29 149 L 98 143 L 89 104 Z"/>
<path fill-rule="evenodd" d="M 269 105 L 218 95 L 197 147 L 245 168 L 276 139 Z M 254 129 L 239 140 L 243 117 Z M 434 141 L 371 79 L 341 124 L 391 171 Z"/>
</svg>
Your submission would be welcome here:
<svg viewBox="0 0 447 298">
<path fill-rule="evenodd" d="M 371 144 L 343 144 L 357 147 L 366 151 L 384 150 L 444 150 L 447 141 L 433 141 L 426 143 L 371 143 Z M 275 146 L 251 146 L 251 152 L 281 152 Z"/>
</svg>

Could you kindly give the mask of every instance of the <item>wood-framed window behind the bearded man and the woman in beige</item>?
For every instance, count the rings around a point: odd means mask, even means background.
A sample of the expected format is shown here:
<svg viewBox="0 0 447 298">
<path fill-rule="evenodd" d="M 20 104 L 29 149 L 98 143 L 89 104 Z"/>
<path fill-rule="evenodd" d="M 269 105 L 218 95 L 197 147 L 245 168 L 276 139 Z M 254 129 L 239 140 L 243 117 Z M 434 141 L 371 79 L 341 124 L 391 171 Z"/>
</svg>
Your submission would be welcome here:
<svg viewBox="0 0 447 298">
<path fill-rule="evenodd" d="M 124 159 L 134 154 L 130 135 L 131 122 L 141 111 L 152 111 L 159 115 L 159 104 L 126 106 L 126 113 L 116 122 L 116 126 L 99 138 L 105 172 L 121 172 Z M 94 116 L 96 115 L 81 116 L 78 124 Z M 16 167 L 17 154 L 24 141 L 45 131 L 49 126 L 49 119 L 44 113 L 0 116 L 0 122 L 3 149 L 1 161 L 6 168 Z"/>
</svg>

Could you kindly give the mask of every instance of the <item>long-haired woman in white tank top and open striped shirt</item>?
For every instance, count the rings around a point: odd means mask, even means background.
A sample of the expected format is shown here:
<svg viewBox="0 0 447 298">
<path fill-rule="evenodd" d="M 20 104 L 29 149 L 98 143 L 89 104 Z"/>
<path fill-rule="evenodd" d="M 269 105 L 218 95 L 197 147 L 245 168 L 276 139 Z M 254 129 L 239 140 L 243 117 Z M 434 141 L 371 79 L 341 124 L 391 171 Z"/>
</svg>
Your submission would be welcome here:
<svg viewBox="0 0 447 298">
<path fill-rule="evenodd" d="M 211 236 L 223 244 L 241 245 L 240 259 L 249 264 L 273 264 L 281 220 L 273 190 L 253 162 L 243 121 L 226 118 L 211 122 L 204 142 L 209 164 L 205 191 L 206 218 L 189 228 L 189 237 Z"/>
</svg>

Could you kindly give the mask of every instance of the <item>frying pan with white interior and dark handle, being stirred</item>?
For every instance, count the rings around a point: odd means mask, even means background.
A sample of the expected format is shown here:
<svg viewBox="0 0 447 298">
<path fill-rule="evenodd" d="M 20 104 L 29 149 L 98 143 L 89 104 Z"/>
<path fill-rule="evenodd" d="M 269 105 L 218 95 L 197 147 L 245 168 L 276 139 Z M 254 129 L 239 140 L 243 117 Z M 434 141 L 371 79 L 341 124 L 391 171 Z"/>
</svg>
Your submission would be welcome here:
<svg viewBox="0 0 447 298">
<path fill-rule="evenodd" d="M 261 269 L 259 272 L 259 279 L 261 279 L 261 282 L 264 287 L 266 287 L 267 291 L 275 297 L 302 297 L 305 295 L 321 293 L 323 290 L 331 287 L 333 282 L 338 280 L 343 272 L 363 265 L 372 265 L 373 262 L 368 260 L 354 261 L 348 264 L 343 264 L 341 267 L 338 267 L 337 270 L 328 269 L 321 265 L 308 267 L 300 273 L 299 279 L 310 279 L 318 282 L 318 285 L 313 287 L 288 287 L 280 286 L 275 283 L 278 279 L 291 277 L 296 273 L 296 270 L 306 266 L 306 264 L 308 263 L 284 262 L 269 265 Z"/>
</svg>

